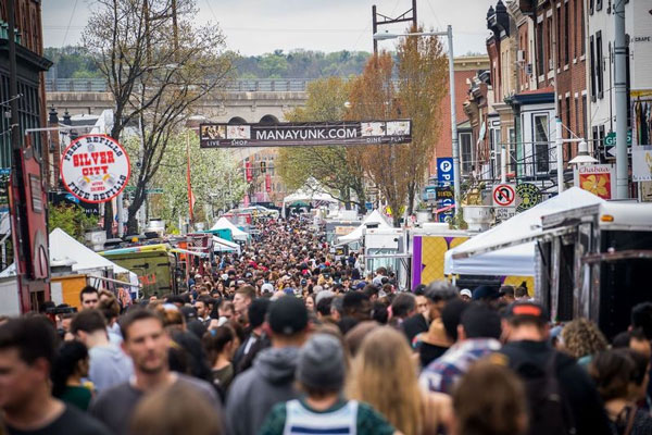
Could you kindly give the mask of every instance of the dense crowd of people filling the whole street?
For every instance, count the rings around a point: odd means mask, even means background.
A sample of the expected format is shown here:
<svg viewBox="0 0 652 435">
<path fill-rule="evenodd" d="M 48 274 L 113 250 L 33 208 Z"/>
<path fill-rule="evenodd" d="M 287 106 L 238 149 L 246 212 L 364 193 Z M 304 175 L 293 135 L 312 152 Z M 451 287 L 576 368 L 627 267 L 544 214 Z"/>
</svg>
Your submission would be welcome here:
<svg viewBox="0 0 652 435">
<path fill-rule="evenodd" d="M 0 321 L 0 434 L 645 435 L 652 302 L 607 339 L 527 289 L 435 282 L 256 224 L 188 291 Z"/>
</svg>

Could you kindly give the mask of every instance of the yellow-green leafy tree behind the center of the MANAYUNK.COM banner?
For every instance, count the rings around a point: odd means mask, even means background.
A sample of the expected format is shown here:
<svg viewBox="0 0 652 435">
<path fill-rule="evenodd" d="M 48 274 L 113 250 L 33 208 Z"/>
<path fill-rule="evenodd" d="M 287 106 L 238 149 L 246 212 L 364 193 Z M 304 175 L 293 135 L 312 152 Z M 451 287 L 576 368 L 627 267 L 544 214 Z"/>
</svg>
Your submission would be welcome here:
<svg viewBox="0 0 652 435">
<path fill-rule="evenodd" d="M 339 77 L 315 80 L 308 86 L 304 108 L 286 113 L 291 122 L 341 121 L 349 97 L 347 83 Z M 364 209 L 363 173 L 347 147 L 281 148 L 278 170 L 289 188 L 300 188 L 312 177 L 347 207 L 356 203 Z"/>
</svg>

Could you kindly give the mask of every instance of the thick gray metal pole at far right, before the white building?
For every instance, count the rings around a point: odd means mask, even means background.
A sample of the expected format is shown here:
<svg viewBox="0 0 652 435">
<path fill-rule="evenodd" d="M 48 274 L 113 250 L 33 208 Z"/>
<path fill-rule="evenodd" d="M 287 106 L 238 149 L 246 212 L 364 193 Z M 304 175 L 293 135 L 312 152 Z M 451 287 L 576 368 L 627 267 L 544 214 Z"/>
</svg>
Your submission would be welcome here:
<svg viewBox="0 0 652 435">
<path fill-rule="evenodd" d="M 614 1 L 614 58 L 616 94 L 616 198 L 629 197 L 629 162 L 627 157 L 627 40 L 625 35 L 625 0 Z"/>
</svg>

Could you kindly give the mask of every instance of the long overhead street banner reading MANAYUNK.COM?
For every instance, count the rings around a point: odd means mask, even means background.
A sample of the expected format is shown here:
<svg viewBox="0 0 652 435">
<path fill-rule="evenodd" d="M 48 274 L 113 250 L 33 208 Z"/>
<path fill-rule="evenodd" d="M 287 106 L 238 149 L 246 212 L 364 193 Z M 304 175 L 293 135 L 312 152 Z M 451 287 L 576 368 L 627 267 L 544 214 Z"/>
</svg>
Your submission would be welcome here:
<svg viewBox="0 0 652 435">
<path fill-rule="evenodd" d="M 281 123 L 200 124 L 201 148 L 315 147 L 328 145 L 408 144 L 410 120 Z"/>
</svg>

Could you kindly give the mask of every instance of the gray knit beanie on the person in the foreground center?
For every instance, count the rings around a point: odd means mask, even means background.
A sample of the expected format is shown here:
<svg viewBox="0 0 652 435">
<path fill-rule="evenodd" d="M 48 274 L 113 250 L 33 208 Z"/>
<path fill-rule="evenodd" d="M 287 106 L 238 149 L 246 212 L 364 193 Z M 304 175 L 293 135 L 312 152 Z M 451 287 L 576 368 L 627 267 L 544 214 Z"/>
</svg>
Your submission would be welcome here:
<svg viewBox="0 0 652 435">
<path fill-rule="evenodd" d="M 339 391 L 344 385 L 344 353 L 338 339 L 313 335 L 299 351 L 297 378 L 312 388 Z"/>
</svg>

